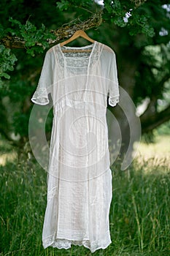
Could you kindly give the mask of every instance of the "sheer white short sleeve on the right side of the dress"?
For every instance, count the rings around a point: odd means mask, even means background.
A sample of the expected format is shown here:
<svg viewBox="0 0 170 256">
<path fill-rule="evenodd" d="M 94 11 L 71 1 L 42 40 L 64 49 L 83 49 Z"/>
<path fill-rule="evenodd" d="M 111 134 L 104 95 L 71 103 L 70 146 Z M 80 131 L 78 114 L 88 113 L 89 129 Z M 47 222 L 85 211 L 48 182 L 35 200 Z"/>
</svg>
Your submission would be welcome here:
<svg viewBox="0 0 170 256">
<path fill-rule="evenodd" d="M 119 102 L 119 83 L 117 78 L 117 64 L 116 56 L 114 51 L 112 51 L 112 60 L 109 69 L 109 105 L 115 107 Z"/>
</svg>

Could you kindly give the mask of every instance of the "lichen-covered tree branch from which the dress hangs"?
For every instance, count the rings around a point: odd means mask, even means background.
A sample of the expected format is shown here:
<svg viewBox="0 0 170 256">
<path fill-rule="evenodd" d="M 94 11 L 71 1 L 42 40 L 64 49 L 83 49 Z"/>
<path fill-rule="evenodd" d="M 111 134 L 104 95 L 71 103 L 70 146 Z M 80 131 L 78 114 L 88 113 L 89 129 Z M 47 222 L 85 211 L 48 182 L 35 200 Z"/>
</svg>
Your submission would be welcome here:
<svg viewBox="0 0 170 256">
<path fill-rule="evenodd" d="M 62 26 L 57 30 L 51 30 L 51 34 L 55 34 L 56 39 L 47 39 L 49 45 L 60 42 L 63 39 L 69 38 L 75 31 L 82 29 L 84 31 L 100 26 L 102 23 L 102 12 L 96 12 L 90 18 L 77 24 Z M 7 36 L 0 39 L 0 43 L 6 48 L 25 48 L 26 41 L 20 37 Z M 42 46 L 41 42 L 36 42 L 36 45 Z"/>
</svg>

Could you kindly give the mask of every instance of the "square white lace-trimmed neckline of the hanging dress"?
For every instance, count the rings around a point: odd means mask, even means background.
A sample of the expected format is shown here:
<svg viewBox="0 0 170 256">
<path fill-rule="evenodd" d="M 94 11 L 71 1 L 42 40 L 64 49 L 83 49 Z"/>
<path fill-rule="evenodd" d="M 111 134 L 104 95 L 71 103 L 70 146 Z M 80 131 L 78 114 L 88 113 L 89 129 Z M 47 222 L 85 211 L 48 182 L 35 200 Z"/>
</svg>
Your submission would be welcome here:
<svg viewBox="0 0 170 256">
<path fill-rule="evenodd" d="M 76 59 L 90 59 L 91 58 L 91 56 L 92 56 L 92 54 L 93 54 L 93 51 L 94 51 L 94 48 L 96 47 L 96 43 L 97 43 L 97 41 L 94 41 L 92 44 L 90 44 L 90 45 L 85 45 L 85 46 L 81 46 L 81 47 L 75 47 L 75 46 L 65 46 L 65 45 L 63 45 L 62 46 L 62 48 L 64 48 L 64 49 L 66 49 L 66 50 L 72 50 L 72 49 L 74 49 L 74 50 L 83 50 L 83 49 L 88 49 L 88 48 L 91 48 L 92 47 L 92 49 L 91 49 L 91 51 L 90 51 L 90 54 L 89 54 L 89 56 L 88 57 L 77 57 Z M 65 55 L 64 55 L 64 53 L 63 53 L 63 50 L 61 49 L 61 45 L 60 45 L 60 43 L 58 44 L 58 48 L 59 48 L 59 50 L 60 50 L 60 52 L 61 52 L 61 55 L 63 56 L 63 59 L 75 59 L 74 57 L 66 57 Z"/>
</svg>

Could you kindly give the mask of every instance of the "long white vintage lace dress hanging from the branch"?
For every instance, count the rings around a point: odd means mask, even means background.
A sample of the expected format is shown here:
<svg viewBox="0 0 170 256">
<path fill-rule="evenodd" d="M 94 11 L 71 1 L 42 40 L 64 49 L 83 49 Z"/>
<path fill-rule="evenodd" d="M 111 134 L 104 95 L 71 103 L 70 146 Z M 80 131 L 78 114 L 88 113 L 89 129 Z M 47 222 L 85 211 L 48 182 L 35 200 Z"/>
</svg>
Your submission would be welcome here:
<svg viewBox="0 0 170 256">
<path fill-rule="evenodd" d="M 45 56 L 32 101 L 53 99 L 53 129 L 47 175 L 44 248 L 83 245 L 95 252 L 110 243 L 107 97 L 119 101 L 114 51 L 100 42 L 69 50 L 59 44 Z M 76 48 L 77 49 L 77 48 Z M 80 51 L 91 49 L 91 51 Z"/>
</svg>

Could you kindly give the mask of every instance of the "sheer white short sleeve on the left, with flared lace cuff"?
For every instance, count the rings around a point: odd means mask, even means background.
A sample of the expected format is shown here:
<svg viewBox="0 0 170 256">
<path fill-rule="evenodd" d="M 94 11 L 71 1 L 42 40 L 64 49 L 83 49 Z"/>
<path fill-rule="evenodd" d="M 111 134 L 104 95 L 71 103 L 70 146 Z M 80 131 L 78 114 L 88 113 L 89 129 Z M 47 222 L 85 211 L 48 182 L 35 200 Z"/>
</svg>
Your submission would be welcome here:
<svg viewBox="0 0 170 256">
<path fill-rule="evenodd" d="M 48 94 L 51 93 L 51 89 L 53 86 L 53 69 L 54 54 L 53 50 L 50 49 L 45 55 L 39 83 L 33 97 L 31 98 L 32 102 L 39 105 L 47 105 L 49 103 Z"/>
</svg>

